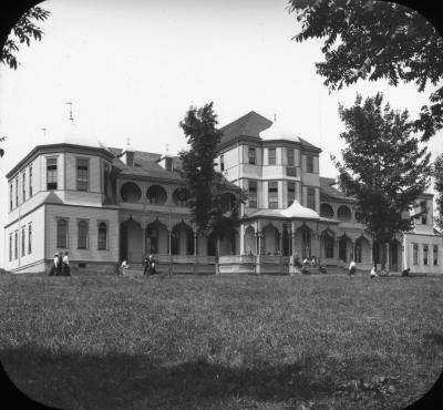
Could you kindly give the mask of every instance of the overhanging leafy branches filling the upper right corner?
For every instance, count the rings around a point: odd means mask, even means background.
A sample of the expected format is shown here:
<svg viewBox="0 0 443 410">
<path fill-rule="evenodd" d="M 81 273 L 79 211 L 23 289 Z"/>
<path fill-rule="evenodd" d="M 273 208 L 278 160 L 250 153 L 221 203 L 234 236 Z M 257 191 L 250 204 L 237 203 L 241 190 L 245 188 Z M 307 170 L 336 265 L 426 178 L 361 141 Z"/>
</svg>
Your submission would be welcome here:
<svg viewBox="0 0 443 410">
<path fill-rule="evenodd" d="M 443 127 L 443 38 L 419 12 L 371 0 L 289 0 L 288 9 L 301 22 L 296 41 L 326 38 L 316 68 L 330 91 L 359 79 L 415 82 L 419 92 L 430 83 L 437 89 L 414 130 L 427 141 Z"/>
</svg>

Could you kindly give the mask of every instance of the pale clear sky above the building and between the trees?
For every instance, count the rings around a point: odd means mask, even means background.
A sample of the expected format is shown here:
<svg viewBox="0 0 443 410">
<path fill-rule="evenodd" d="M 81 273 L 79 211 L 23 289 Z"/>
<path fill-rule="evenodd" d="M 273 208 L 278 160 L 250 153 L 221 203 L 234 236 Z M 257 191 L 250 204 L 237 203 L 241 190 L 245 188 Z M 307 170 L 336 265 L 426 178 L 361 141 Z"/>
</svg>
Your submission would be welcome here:
<svg viewBox="0 0 443 410">
<path fill-rule="evenodd" d="M 278 121 L 321 147 L 320 175 L 337 176 L 350 106 L 382 91 L 393 109 L 415 117 L 430 90 L 364 82 L 329 93 L 315 62 L 321 41 L 291 40 L 300 25 L 286 0 L 49 0 L 44 35 L 0 65 L 0 225 L 7 222 L 4 175 L 33 146 L 56 137 L 72 101 L 78 130 L 106 146 L 169 153 L 186 147 L 178 126 L 190 105 L 210 101 L 223 126 L 249 111 Z M 47 129 L 47 134 L 42 129 Z M 443 152 L 443 132 L 429 142 Z M 1 249 L 4 235 L 0 235 Z M 3 252 L 0 252 L 0 267 Z"/>
</svg>

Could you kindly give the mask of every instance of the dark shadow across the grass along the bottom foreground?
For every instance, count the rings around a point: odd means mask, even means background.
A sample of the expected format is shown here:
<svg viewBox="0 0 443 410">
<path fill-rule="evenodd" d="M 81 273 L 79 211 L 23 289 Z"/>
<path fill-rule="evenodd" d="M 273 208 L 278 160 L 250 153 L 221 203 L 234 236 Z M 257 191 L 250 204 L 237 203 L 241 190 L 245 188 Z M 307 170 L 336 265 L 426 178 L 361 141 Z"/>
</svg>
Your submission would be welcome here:
<svg viewBox="0 0 443 410">
<path fill-rule="evenodd" d="M 312 375 L 319 358 L 260 368 L 206 360 L 166 366 L 143 355 L 54 355 L 32 345 L 3 349 L 0 358 L 24 394 L 64 409 L 190 408 L 241 398 L 295 404 L 333 390 L 330 376 Z"/>
</svg>

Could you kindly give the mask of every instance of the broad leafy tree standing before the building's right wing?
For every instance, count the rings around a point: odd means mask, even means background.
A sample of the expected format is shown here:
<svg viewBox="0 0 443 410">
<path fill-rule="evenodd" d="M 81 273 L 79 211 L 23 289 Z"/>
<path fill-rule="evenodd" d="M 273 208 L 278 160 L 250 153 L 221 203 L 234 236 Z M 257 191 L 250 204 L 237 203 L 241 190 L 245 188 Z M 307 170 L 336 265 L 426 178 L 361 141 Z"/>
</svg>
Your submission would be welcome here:
<svg viewBox="0 0 443 410">
<path fill-rule="evenodd" d="M 332 157 L 339 171 L 341 188 L 356 198 L 357 219 L 364 224 L 374 242 L 385 246 L 396 234 L 412 229 L 423 212 L 410 215 L 414 202 L 429 186 L 431 165 L 426 147 L 419 147 L 408 111 L 382 107 L 378 93 L 353 106 L 339 107 L 347 131 L 340 134 L 347 143 L 343 162 Z"/>
</svg>

